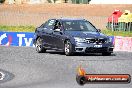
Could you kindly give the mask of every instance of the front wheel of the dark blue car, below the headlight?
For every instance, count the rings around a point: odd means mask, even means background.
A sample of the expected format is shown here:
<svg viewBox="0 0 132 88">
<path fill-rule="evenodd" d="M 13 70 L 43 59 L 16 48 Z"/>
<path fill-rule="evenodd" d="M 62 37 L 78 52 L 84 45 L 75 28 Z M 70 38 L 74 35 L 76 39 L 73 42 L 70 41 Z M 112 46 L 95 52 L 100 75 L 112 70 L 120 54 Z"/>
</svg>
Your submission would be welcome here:
<svg viewBox="0 0 132 88">
<path fill-rule="evenodd" d="M 72 52 L 72 44 L 69 40 L 67 40 L 64 44 L 64 52 L 66 56 L 70 56 L 73 54 Z"/>
</svg>

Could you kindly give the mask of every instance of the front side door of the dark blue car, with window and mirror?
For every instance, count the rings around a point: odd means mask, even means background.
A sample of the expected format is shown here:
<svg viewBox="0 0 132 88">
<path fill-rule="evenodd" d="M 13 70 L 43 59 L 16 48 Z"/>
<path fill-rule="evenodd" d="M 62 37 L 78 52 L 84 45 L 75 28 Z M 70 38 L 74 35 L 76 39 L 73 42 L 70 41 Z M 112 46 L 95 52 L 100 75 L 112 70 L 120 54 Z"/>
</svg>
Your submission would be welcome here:
<svg viewBox="0 0 132 88">
<path fill-rule="evenodd" d="M 61 23 L 56 20 L 55 25 L 54 25 L 54 32 L 53 32 L 53 44 L 55 48 L 62 50 L 64 47 L 63 41 L 64 41 L 64 34 L 63 34 L 63 27 Z"/>
</svg>

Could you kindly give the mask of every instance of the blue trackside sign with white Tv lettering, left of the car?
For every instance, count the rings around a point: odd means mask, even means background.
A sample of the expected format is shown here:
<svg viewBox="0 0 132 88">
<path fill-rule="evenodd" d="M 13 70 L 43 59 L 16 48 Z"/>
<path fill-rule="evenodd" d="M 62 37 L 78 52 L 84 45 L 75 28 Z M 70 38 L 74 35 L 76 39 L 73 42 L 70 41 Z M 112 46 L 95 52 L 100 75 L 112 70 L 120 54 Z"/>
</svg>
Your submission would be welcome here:
<svg viewBox="0 0 132 88">
<path fill-rule="evenodd" d="M 33 36 L 28 32 L 0 32 L 0 45 L 33 46 Z"/>
</svg>

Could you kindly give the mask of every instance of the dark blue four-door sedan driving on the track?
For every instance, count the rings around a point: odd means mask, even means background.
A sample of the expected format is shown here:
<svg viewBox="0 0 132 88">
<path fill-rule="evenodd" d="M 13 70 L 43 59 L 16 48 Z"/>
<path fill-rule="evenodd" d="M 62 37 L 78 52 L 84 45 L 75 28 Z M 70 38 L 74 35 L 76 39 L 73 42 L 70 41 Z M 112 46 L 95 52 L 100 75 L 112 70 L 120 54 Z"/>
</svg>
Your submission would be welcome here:
<svg viewBox="0 0 132 88">
<path fill-rule="evenodd" d="M 49 19 L 35 30 L 33 44 L 38 53 L 62 51 L 65 55 L 79 53 L 113 53 L 112 39 L 91 22 L 80 18 Z"/>
</svg>

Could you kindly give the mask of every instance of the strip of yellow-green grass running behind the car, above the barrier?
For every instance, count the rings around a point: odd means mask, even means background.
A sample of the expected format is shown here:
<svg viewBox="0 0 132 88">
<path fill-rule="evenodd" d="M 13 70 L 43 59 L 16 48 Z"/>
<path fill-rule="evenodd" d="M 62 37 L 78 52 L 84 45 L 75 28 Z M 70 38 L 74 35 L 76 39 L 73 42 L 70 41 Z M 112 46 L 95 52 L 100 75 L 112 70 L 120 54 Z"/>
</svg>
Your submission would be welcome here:
<svg viewBox="0 0 132 88">
<path fill-rule="evenodd" d="M 5 26 L 0 25 L 0 31 L 8 32 L 34 32 L 35 26 Z M 102 30 L 102 33 L 110 36 L 127 36 L 132 37 L 132 32 L 128 31 L 111 31 L 108 29 Z"/>
</svg>

